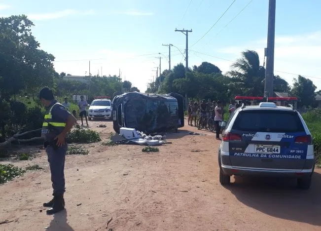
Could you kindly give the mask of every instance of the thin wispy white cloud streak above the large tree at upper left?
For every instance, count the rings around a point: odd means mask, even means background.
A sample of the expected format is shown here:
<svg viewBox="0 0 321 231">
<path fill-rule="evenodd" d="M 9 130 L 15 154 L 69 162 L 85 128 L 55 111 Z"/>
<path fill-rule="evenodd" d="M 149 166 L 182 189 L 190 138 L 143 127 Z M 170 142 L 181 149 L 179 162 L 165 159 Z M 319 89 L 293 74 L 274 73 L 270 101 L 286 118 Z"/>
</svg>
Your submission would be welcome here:
<svg viewBox="0 0 321 231">
<path fill-rule="evenodd" d="M 57 18 L 63 18 L 71 15 L 90 15 L 94 14 L 93 10 L 87 10 L 87 11 L 79 11 L 75 9 L 66 9 L 56 12 L 49 12 L 49 13 L 40 13 L 40 14 L 27 14 L 28 18 L 31 20 L 50 20 L 50 19 L 57 19 Z"/>
</svg>

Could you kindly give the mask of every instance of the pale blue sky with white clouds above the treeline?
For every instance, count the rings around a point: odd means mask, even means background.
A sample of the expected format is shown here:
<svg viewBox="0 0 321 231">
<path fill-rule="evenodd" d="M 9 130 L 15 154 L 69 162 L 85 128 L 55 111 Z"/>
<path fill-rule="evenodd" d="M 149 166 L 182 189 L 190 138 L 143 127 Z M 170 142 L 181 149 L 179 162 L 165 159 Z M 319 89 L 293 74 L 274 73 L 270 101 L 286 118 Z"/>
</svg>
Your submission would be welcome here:
<svg viewBox="0 0 321 231">
<path fill-rule="evenodd" d="M 169 48 L 162 44 L 174 45 L 172 68 L 185 65 L 185 36 L 176 28 L 192 30 L 189 67 L 207 61 L 225 73 L 246 49 L 257 51 L 263 65 L 268 0 L 233 1 L 0 0 L 0 17 L 26 14 L 58 73 L 84 76 L 90 67 L 92 75 L 118 75 L 120 69 L 123 80 L 145 91 L 157 57 L 161 71 L 169 68 Z M 320 0 L 276 2 L 274 74 L 290 85 L 302 75 L 321 89 L 320 9 Z"/>
</svg>

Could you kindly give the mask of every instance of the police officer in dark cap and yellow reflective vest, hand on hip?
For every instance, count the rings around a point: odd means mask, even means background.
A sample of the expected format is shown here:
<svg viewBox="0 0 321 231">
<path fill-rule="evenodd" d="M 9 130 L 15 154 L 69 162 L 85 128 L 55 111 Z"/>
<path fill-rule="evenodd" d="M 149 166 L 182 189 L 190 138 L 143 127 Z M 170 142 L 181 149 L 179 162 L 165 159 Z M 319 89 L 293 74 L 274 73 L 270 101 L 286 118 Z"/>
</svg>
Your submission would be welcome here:
<svg viewBox="0 0 321 231">
<path fill-rule="evenodd" d="M 50 207 L 47 214 L 54 214 L 65 208 L 65 155 L 67 152 L 66 136 L 71 130 L 76 119 L 66 108 L 55 100 L 52 90 L 44 87 L 39 92 L 39 98 L 46 107 L 47 113 L 41 129 L 44 137 L 44 147 L 48 155 L 53 188 L 53 199 L 43 203 L 44 207 Z"/>
</svg>

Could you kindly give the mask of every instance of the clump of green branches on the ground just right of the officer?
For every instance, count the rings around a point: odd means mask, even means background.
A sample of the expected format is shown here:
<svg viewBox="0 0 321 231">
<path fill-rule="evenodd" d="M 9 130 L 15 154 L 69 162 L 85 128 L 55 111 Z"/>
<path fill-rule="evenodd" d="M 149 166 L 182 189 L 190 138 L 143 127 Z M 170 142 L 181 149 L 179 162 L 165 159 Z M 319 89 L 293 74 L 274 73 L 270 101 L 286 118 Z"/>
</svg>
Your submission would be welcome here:
<svg viewBox="0 0 321 231">
<path fill-rule="evenodd" d="M 98 132 L 85 129 L 80 127 L 79 125 L 76 125 L 76 128 L 73 129 L 68 138 L 68 142 L 70 143 L 95 143 L 99 142 L 102 139 L 100 138 L 100 135 Z"/>
</svg>

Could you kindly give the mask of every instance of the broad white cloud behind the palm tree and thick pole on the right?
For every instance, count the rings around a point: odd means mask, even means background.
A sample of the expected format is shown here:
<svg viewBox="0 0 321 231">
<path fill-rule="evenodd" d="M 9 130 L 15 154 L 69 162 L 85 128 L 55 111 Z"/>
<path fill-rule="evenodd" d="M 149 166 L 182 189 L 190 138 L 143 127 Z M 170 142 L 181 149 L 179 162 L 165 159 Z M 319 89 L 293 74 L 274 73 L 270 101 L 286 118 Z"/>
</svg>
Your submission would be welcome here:
<svg viewBox="0 0 321 231">
<path fill-rule="evenodd" d="M 242 51 L 246 49 L 255 50 L 258 52 L 260 61 L 262 62 L 264 58 L 264 47 L 266 47 L 266 39 L 261 39 L 258 41 L 250 41 L 249 43 L 240 46 L 225 47 L 219 49 L 218 52 L 225 54 L 224 57 L 227 59 L 235 60 L 240 57 Z M 275 75 L 284 77 L 290 85 L 292 84 L 294 77 L 302 75 L 308 78 L 311 77 L 310 79 L 318 89 L 321 89 L 320 63 L 321 31 L 302 35 L 276 36 L 274 61 Z M 228 70 L 229 69 L 224 70 L 222 68 L 223 72 Z"/>
</svg>

